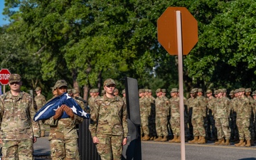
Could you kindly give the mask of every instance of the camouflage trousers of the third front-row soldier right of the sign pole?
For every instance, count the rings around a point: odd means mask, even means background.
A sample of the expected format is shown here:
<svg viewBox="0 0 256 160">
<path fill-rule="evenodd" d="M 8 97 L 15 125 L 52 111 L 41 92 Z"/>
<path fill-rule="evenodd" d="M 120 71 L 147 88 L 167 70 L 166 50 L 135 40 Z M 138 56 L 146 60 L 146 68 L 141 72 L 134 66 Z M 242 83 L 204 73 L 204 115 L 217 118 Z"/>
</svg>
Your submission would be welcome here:
<svg viewBox="0 0 256 160">
<path fill-rule="evenodd" d="M 250 137 L 250 119 L 243 119 L 243 118 L 237 118 L 237 125 L 238 125 L 238 133 L 239 133 L 239 139 L 251 139 Z"/>
</svg>

